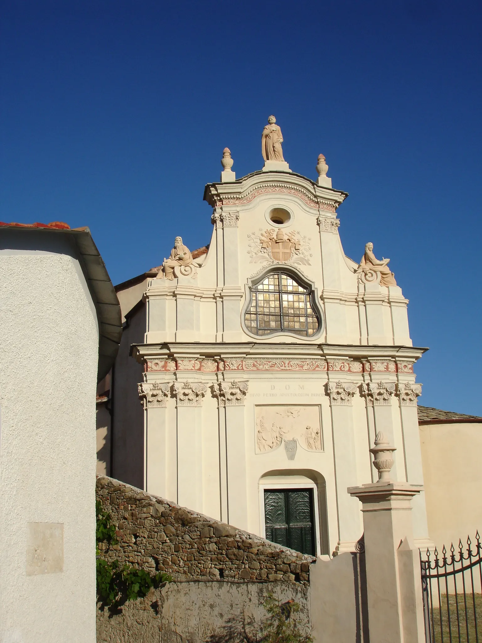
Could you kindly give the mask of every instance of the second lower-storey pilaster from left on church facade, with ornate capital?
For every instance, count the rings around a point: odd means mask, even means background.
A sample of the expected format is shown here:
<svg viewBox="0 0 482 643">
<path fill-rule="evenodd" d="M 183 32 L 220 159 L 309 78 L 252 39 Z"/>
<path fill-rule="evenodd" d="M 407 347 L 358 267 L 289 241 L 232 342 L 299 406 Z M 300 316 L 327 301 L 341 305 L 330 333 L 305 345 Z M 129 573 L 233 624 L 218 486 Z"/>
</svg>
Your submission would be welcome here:
<svg viewBox="0 0 482 643">
<path fill-rule="evenodd" d="M 177 400 L 177 503 L 202 512 L 202 382 L 174 382 Z"/>
</svg>

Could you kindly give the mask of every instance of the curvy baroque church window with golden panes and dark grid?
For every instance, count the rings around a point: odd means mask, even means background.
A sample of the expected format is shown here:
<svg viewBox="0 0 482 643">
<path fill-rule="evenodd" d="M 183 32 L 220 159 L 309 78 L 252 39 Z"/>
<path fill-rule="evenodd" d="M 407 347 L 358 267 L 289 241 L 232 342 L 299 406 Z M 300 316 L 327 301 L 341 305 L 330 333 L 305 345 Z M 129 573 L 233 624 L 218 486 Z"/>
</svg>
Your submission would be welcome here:
<svg viewBox="0 0 482 643">
<path fill-rule="evenodd" d="M 308 288 L 282 272 L 270 273 L 251 288 L 244 321 L 254 335 L 290 332 L 311 337 L 320 325 Z"/>
</svg>

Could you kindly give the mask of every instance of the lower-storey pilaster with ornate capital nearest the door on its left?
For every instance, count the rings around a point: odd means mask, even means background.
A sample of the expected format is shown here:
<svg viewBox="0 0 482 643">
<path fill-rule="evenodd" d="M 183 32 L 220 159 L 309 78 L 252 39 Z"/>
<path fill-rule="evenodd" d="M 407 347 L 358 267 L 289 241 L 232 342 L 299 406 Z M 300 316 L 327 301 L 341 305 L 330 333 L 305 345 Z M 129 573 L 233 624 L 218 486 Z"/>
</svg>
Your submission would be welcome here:
<svg viewBox="0 0 482 643">
<path fill-rule="evenodd" d="M 244 398 L 247 388 L 246 381 L 219 382 L 215 393 L 226 417 L 227 521 L 230 525 L 245 530 L 248 527 L 244 421 Z"/>
</svg>

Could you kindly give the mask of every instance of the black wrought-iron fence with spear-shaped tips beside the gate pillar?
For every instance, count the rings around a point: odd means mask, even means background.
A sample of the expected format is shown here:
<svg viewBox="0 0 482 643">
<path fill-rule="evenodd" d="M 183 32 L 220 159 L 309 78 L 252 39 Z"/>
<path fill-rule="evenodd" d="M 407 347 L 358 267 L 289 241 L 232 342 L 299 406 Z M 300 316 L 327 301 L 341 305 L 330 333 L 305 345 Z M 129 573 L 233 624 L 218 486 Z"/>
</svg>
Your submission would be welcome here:
<svg viewBox="0 0 482 643">
<path fill-rule="evenodd" d="M 474 551 L 475 548 L 475 551 Z M 482 543 L 420 552 L 426 643 L 482 643 Z"/>
</svg>

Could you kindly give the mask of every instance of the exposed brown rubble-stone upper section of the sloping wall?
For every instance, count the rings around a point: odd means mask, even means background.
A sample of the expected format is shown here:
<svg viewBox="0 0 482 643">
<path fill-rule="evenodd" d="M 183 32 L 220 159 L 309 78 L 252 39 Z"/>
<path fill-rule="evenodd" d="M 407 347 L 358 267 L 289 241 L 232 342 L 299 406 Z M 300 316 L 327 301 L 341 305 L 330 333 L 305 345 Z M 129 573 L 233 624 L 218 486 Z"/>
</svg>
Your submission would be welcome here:
<svg viewBox="0 0 482 643">
<path fill-rule="evenodd" d="M 175 581 L 308 583 L 313 556 L 270 543 L 135 487 L 99 476 L 96 497 L 117 525 L 107 560 L 171 574 Z"/>
</svg>

